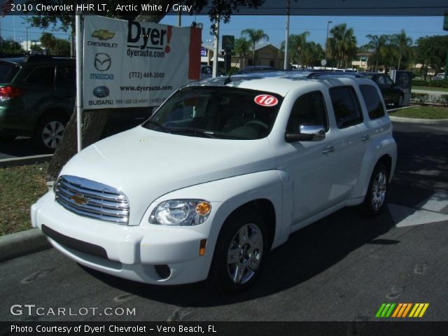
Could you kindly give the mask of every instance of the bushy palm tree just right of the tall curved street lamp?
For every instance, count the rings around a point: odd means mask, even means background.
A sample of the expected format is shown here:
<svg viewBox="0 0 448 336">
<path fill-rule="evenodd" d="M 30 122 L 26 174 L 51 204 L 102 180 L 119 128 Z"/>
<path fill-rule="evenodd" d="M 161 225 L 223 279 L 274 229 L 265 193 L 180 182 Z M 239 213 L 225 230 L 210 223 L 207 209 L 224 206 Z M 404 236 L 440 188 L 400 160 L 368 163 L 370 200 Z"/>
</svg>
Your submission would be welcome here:
<svg viewBox="0 0 448 336">
<path fill-rule="evenodd" d="M 333 27 L 330 30 L 332 36 L 328 38 L 328 51 L 332 58 L 336 59 L 339 67 L 346 67 L 349 60 L 356 55 L 356 37 L 353 28 L 346 27 L 345 23 Z"/>
</svg>

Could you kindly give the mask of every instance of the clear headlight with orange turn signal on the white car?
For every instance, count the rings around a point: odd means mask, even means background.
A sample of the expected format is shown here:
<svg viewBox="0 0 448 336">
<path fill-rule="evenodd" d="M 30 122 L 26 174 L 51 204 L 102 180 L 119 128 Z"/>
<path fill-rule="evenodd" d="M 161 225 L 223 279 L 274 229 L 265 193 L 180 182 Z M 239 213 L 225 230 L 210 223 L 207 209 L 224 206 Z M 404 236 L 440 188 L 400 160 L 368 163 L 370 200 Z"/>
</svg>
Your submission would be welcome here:
<svg viewBox="0 0 448 336">
<path fill-rule="evenodd" d="M 204 200 L 161 202 L 149 216 L 149 223 L 160 225 L 199 225 L 207 221 L 211 204 Z"/>
</svg>

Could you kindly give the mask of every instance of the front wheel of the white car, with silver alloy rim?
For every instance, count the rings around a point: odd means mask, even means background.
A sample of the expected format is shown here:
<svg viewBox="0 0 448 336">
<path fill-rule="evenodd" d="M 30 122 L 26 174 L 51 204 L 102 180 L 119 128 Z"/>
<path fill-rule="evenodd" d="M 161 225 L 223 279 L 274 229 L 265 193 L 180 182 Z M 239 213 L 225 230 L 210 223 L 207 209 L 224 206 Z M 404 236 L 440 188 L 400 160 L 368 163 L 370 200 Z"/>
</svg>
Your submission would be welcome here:
<svg viewBox="0 0 448 336">
<path fill-rule="evenodd" d="M 230 216 L 216 242 L 211 267 L 215 285 L 230 292 L 246 290 L 260 274 L 268 251 L 267 228 L 258 214 L 239 211 Z"/>
</svg>

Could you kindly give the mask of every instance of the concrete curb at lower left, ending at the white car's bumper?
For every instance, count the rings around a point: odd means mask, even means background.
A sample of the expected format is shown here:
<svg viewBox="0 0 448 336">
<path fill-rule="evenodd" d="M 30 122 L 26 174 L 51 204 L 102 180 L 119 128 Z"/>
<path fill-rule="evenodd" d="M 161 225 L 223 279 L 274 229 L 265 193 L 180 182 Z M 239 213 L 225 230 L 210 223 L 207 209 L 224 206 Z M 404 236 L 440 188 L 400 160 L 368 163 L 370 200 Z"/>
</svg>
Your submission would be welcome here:
<svg viewBox="0 0 448 336">
<path fill-rule="evenodd" d="M 41 230 L 27 231 L 0 237 L 0 262 L 46 250 L 51 245 Z"/>
</svg>

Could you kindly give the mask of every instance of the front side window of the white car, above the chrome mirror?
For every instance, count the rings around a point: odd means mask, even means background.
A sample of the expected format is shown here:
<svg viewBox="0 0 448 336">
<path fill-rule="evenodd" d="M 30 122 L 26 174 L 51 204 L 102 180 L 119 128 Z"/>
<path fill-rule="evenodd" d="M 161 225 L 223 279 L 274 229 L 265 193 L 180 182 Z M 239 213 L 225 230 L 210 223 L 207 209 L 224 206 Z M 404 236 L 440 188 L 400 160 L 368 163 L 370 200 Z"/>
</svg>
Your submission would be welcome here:
<svg viewBox="0 0 448 336">
<path fill-rule="evenodd" d="M 320 91 L 302 94 L 294 103 L 289 116 L 288 132 L 300 132 L 300 125 L 319 125 L 328 129 L 323 94 Z"/>
</svg>

